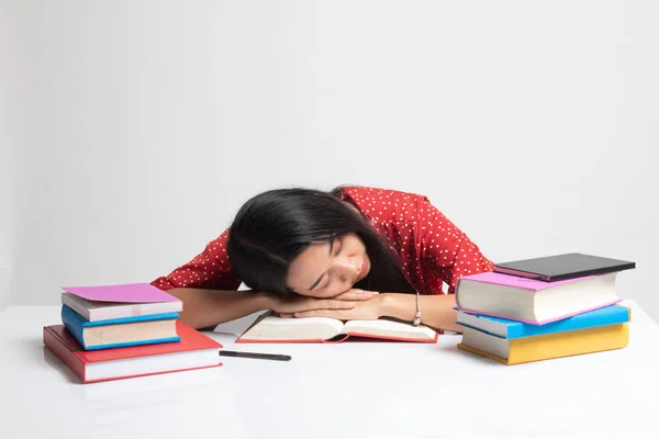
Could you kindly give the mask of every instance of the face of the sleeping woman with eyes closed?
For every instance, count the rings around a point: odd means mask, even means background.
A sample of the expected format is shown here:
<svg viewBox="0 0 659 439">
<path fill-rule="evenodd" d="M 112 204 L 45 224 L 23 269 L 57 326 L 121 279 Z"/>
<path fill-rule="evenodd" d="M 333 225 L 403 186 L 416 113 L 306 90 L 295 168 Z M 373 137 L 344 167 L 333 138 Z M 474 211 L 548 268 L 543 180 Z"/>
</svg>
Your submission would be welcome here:
<svg viewBox="0 0 659 439">
<path fill-rule="evenodd" d="M 346 234 L 309 245 L 291 262 L 286 281 L 298 294 L 333 297 L 366 278 L 370 268 L 364 241 Z"/>
</svg>

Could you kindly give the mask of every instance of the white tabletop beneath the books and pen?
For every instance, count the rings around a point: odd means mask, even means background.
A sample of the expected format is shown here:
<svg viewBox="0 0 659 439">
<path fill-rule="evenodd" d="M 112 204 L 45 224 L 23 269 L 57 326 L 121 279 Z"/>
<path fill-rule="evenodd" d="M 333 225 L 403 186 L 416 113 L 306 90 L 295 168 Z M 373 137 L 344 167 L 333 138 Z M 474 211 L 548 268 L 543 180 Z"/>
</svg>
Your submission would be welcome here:
<svg viewBox="0 0 659 439">
<path fill-rule="evenodd" d="M 59 307 L 0 313 L 3 438 L 659 438 L 659 326 L 633 308 L 629 347 L 505 367 L 437 345 L 237 345 L 290 362 L 98 384 L 42 342 Z M 241 324 L 243 326 L 241 326 Z M 246 322 L 224 330 L 239 330 Z"/>
</svg>

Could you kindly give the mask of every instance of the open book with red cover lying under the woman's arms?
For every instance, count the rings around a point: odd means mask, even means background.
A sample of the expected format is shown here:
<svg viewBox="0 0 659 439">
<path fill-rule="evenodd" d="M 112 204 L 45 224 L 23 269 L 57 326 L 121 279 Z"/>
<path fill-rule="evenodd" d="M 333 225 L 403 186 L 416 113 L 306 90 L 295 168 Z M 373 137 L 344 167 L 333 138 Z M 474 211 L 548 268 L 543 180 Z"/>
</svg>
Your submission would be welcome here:
<svg viewBox="0 0 659 439">
<path fill-rule="evenodd" d="M 340 342 L 348 337 L 392 341 L 436 342 L 438 334 L 427 326 L 389 319 L 342 322 L 326 317 L 259 317 L 236 342 Z"/>
</svg>

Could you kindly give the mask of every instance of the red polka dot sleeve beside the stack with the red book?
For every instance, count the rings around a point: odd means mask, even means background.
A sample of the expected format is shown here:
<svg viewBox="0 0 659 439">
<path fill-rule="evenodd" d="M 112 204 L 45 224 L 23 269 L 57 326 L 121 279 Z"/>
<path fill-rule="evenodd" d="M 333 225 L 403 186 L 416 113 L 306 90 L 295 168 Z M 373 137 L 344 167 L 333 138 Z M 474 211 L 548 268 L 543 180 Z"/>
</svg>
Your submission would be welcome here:
<svg viewBox="0 0 659 439">
<path fill-rule="evenodd" d="M 175 288 L 237 290 L 242 282 L 236 278 L 228 260 L 228 254 L 226 252 L 227 237 L 228 229 L 210 241 L 194 259 L 177 268 L 168 275 L 156 279 L 152 284 L 160 290 Z"/>
</svg>

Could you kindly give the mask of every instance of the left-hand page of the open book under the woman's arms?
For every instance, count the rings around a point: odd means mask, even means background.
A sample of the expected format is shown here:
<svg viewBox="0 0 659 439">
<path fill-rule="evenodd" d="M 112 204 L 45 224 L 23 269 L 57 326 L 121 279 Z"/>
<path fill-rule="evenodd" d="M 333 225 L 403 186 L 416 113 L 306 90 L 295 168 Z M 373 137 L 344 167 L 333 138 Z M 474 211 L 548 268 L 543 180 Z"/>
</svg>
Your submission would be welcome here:
<svg viewBox="0 0 659 439">
<path fill-rule="evenodd" d="M 343 330 L 343 323 L 334 318 L 281 318 L 267 316 L 252 326 L 242 340 L 326 340 Z"/>
</svg>

